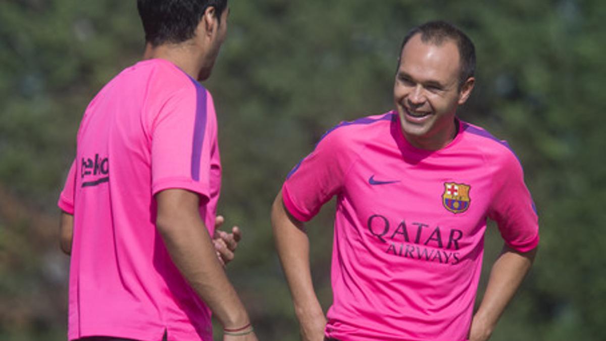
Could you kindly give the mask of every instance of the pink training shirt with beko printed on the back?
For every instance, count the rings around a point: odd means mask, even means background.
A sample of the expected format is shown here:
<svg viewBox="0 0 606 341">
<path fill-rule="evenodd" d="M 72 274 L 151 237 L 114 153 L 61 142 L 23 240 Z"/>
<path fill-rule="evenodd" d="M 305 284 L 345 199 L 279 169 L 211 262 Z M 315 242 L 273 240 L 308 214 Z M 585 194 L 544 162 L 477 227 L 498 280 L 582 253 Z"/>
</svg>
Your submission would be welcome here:
<svg viewBox="0 0 606 341">
<path fill-rule="evenodd" d="M 220 187 L 213 100 L 178 67 L 139 62 L 95 96 L 58 203 L 74 215 L 70 340 L 212 340 L 210 310 L 156 230 L 154 195 L 198 193 L 212 234 Z"/>
</svg>

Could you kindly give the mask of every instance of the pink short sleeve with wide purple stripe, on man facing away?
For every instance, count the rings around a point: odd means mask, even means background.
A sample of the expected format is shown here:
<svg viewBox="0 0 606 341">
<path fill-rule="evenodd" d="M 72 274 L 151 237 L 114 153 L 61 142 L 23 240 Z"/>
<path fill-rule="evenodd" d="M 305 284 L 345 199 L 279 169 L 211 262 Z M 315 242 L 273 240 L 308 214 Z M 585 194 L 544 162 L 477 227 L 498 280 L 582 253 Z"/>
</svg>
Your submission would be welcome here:
<svg viewBox="0 0 606 341">
<path fill-rule="evenodd" d="M 152 194 L 181 188 L 210 198 L 214 118 L 210 94 L 193 81 L 163 103 L 151 132 Z"/>
</svg>

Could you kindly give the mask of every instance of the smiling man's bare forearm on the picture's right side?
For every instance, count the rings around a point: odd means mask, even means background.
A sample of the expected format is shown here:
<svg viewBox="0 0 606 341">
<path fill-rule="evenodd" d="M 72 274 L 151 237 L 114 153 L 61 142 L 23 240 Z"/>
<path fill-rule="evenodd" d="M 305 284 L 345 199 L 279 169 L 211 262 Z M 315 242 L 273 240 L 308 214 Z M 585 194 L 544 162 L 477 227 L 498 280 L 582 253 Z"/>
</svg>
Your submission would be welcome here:
<svg viewBox="0 0 606 341">
<path fill-rule="evenodd" d="M 521 253 L 507 245 L 494 262 L 484 298 L 471 323 L 470 340 L 487 340 L 534 261 L 536 249 Z"/>
</svg>

